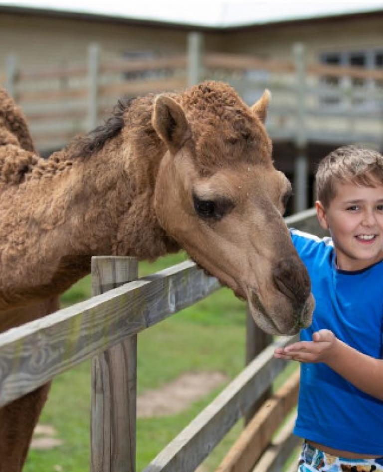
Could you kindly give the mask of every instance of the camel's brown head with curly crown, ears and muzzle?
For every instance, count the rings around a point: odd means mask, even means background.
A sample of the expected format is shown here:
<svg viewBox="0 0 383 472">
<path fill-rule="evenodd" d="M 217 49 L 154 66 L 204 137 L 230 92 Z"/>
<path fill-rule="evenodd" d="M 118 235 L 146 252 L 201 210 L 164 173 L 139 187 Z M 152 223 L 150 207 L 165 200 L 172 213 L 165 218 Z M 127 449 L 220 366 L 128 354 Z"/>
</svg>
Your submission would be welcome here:
<svg viewBox="0 0 383 472">
<path fill-rule="evenodd" d="M 291 186 L 271 161 L 269 92 L 247 107 L 228 85 L 160 95 L 153 127 L 167 146 L 155 211 L 161 226 L 236 295 L 260 328 L 291 335 L 311 323 L 310 279 L 282 215 Z"/>
</svg>

